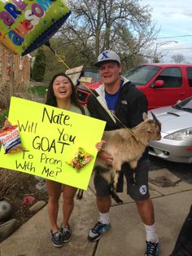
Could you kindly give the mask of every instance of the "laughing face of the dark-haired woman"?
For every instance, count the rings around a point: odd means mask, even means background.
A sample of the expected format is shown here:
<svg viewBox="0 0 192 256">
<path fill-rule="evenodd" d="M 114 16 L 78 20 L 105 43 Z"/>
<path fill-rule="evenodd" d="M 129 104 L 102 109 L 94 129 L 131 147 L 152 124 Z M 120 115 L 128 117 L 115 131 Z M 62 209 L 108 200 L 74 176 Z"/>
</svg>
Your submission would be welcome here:
<svg viewBox="0 0 192 256">
<path fill-rule="evenodd" d="M 56 99 L 69 99 L 72 95 L 72 85 L 67 77 L 58 76 L 53 82 Z"/>
</svg>

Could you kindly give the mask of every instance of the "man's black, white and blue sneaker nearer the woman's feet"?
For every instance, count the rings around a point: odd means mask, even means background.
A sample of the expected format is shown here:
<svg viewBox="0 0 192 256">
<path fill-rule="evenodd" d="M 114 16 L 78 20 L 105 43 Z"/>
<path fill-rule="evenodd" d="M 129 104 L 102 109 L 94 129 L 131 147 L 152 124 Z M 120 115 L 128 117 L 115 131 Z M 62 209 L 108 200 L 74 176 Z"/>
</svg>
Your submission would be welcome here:
<svg viewBox="0 0 192 256">
<path fill-rule="evenodd" d="M 107 232 L 110 228 L 111 228 L 110 223 L 103 224 L 98 221 L 94 225 L 94 227 L 91 228 L 91 230 L 89 231 L 89 235 L 88 235 L 87 239 L 90 242 L 97 241 L 103 235 L 103 233 Z"/>
</svg>

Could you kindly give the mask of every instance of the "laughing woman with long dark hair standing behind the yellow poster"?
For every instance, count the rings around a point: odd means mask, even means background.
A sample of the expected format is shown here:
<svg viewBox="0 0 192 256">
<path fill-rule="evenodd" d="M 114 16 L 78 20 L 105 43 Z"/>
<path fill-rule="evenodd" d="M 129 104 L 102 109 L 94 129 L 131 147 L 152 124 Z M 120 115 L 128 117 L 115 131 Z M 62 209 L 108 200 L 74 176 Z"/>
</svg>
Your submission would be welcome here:
<svg viewBox="0 0 192 256">
<path fill-rule="evenodd" d="M 50 81 L 47 90 L 46 104 L 57 108 L 89 115 L 86 108 L 83 108 L 76 99 L 76 89 L 70 77 L 65 73 L 56 74 Z M 48 213 L 50 218 L 52 244 L 56 247 L 63 246 L 72 238 L 72 229 L 69 226 L 69 218 L 74 207 L 74 196 L 77 188 L 66 184 L 46 180 L 46 189 L 49 195 Z M 59 197 L 63 192 L 63 223 L 58 226 L 57 218 L 59 211 Z"/>
</svg>

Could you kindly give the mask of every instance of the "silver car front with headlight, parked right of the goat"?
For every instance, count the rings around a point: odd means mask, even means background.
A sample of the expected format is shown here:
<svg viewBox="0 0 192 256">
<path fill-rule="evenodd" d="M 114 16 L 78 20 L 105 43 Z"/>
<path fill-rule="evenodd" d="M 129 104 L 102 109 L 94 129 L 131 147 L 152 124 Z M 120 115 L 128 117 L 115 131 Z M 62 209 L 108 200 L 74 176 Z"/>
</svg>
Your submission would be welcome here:
<svg viewBox="0 0 192 256">
<path fill-rule="evenodd" d="M 150 155 L 168 161 L 192 163 L 192 97 L 151 111 L 162 124 L 162 139 L 150 142 Z M 151 117 L 150 111 L 148 116 Z"/>
</svg>

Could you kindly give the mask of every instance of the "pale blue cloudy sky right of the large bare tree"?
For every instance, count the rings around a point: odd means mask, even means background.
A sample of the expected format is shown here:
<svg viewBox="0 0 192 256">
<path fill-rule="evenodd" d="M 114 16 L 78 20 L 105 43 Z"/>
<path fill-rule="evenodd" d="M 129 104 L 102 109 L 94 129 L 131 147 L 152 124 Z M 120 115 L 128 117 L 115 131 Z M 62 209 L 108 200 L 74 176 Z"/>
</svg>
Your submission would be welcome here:
<svg viewBox="0 0 192 256">
<path fill-rule="evenodd" d="M 155 46 L 164 55 L 161 62 L 173 62 L 172 55 L 181 54 L 192 64 L 191 0 L 140 0 L 140 5 L 150 5 L 155 28 L 160 29 Z"/>
</svg>

